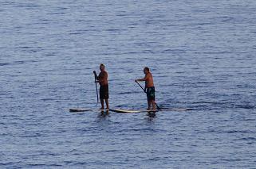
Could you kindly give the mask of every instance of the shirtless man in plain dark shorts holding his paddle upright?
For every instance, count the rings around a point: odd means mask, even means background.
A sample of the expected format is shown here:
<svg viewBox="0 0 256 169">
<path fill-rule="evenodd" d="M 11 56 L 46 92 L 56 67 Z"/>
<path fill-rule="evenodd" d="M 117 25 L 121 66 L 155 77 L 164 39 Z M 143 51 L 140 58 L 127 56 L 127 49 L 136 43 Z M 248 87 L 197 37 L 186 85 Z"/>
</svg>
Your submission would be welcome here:
<svg viewBox="0 0 256 169">
<path fill-rule="evenodd" d="M 101 108 L 104 109 L 104 101 L 106 103 L 107 109 L 108 106 L 108 72 L 104 69 L 104 64 L 100 64 L 100 74 L 96 75 L 96 71 L 93 71 L 95 78 L 98 83 L 100 83 L 100 103 Z"/>
</svg>

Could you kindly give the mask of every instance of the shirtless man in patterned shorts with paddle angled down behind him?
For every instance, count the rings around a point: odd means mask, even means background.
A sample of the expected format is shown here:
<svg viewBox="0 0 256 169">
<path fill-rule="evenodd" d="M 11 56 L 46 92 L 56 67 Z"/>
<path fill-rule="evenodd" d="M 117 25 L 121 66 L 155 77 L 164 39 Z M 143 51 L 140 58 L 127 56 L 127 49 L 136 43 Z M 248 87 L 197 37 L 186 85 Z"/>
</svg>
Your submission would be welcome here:
<svg viewBox="0 0 256 169">
<path fill-rule="evenodd" d="M 148 110 L 156 110 L 156 102 L 155 102 L 155 86 L 153 82 L 152 73 L 149 71 L 148 67 L 144 67 L 144 79 L 136 79 L 135 82 L 145 81 L 145 92 L 147 93 L 148 98 Z"/>
</svg>

